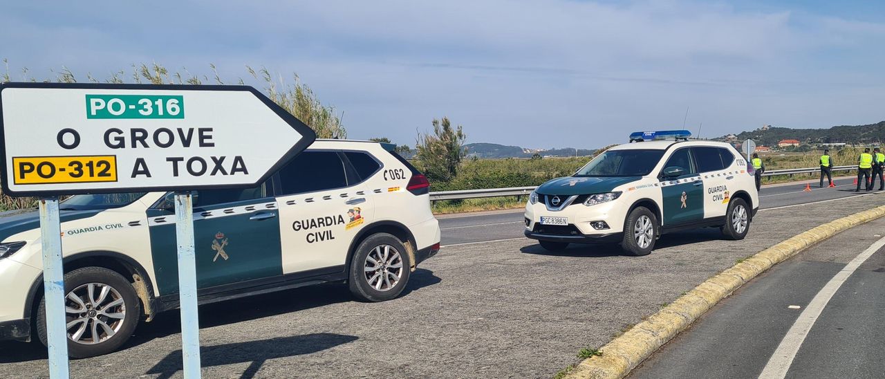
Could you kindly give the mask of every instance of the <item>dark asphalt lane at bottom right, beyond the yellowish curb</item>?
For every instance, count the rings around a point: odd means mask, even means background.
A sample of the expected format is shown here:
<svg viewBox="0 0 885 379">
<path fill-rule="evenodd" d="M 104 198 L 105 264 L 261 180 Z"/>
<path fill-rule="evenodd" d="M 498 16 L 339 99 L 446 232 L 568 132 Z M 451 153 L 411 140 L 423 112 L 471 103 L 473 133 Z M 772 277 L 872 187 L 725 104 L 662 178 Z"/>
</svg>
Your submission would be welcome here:
<svg viewBox="0 0 885 379">
<path fill-rule="evenodd" d="M 882 236 L 885 219 L 875 220 L 773 267 L 720 302 L 631 377 L 685 378 L 703 367 L 704 377 L 756 378 L 773 358 L 795 356 L 791 364 L 775 360 L 771 367 L 787 369 L 788 378 L 881 378 L 885 249 L 873 247 L 876 252 L 835 290 L 795 355 L 778 349 L 800 314 L 814 309 L 812 298 Z"/>
</svg>

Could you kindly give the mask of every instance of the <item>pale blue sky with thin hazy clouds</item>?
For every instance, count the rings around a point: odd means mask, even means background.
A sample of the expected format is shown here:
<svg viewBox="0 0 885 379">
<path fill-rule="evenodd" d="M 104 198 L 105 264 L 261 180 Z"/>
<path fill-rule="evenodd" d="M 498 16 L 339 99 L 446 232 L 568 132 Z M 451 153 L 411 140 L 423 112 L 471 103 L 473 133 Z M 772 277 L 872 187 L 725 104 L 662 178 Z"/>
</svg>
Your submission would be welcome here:
<svg viewBox="0 0 885 379">
<path fill-rule="evenodd" d="M 350 138 L 409 145 L 443 116 L 468 143 L 527 148 L 885 120 L 880 1 L 89 4 L 4 4 L 12 80 L 157 62 L 234 83 L 265 66 L 335 105 Z"/>
</svg>

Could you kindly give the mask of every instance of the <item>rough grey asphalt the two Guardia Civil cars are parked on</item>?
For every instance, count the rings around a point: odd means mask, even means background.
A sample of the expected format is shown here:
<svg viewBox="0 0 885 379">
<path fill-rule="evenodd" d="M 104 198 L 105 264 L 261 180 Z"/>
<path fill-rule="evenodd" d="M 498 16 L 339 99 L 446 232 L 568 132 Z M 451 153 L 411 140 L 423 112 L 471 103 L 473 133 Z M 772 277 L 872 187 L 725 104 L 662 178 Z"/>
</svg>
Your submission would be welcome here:
<svg viewBox="0 0 885 379">
<path fill-rule="evenodd" d="M 829 190 L 782 197 L 849 195 Z M 400 298 L 359 303 L 331 284 L 201 306 L 204 376 L 550 377 L 577 362 L 582 347 L 605 344 L 736 259 L 882 204 L 885 196 L 873 194 L 772 207 L 743 241 L 706 228 L 663 236 L 639 258 L 617 246 L 550 253 L 521 237 L 519 224 L 471 227 L 519 222 L 519 213 L 444 218 L 448 246 L 412 274 Z M 181 377 L 179 322 L 171 312 L 142 323 L 123 350 L 72 360 L 72 376 Z M 47 374 L 42 345 L 0 343 L 0 377 Z"/>
</svg>

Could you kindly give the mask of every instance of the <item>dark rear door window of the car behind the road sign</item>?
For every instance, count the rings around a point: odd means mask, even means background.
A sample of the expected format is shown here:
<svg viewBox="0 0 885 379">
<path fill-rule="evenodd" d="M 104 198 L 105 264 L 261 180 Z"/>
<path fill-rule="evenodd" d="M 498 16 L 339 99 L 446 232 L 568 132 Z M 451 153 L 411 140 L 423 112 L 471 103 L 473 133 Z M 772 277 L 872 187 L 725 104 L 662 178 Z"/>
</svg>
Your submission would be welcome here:
<svg viewBox="0 0 885 379">
<path fill-rule="evenodd" d="M 342 187 L 347 177 L 335 151 L 304 151 L 280 170 L 281 195 Z"/>
</svg>

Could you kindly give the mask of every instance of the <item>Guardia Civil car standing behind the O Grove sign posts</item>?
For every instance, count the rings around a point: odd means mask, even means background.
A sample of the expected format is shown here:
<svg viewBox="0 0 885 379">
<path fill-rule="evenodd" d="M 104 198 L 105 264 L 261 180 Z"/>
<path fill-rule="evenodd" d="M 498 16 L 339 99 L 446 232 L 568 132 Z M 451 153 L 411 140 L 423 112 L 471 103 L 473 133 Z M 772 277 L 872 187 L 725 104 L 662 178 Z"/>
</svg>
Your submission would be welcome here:
<svg viewBox="0 0 885 379">
<path fill-rule="evenodd" d="M 396 298 L 440 247 L 429 183 L 381 143 L 317 140 L 248 190 L 194 193 L 200 303 L 346 281 Z M 178 307 L 173 194 L 77 195 L 60 205 L 68 350 L 112 352 Z M 0 339 L 46 342 L 34 212 L 0 218 Z"/>
</svg>

